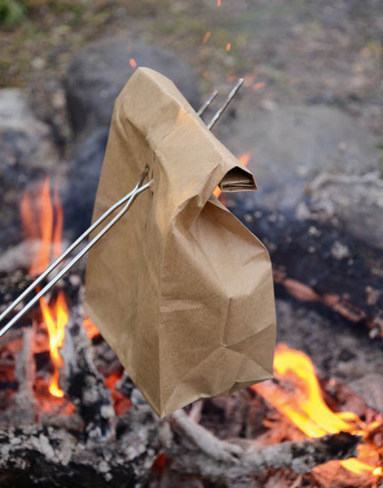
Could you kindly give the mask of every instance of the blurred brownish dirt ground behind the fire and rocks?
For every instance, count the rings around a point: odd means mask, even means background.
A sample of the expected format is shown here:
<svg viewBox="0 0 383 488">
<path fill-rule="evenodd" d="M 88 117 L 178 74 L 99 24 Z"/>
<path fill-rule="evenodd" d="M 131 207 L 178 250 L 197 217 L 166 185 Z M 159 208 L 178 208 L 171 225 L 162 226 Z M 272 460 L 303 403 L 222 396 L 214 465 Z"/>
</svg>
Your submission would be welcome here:
<svg viewBox="0 0 383 488">
<path fill-rule="evenodd" d="M 42 89 L 62 79 L 82 45 L 122 36 L 175 52 L 201 77 L 204 93 L 245 76 L 243 109 L 325 103 L 382 135 L 380 0 L 2 3 L 24 10 L 12 17 L 0 7 L 0 86 Z"/>
</svg>

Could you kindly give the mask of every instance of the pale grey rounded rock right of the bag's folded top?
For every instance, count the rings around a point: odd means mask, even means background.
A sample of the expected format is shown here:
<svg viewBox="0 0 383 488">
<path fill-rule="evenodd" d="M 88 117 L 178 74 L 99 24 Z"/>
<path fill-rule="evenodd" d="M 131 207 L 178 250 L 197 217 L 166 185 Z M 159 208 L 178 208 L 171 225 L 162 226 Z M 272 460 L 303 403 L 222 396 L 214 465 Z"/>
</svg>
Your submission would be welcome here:
<svg viewBox="0 0 383 488">
<path fill-rule="evenodd" d="M 233 125 L 233 127 L 232 127 Z M 251 151 L 257 206 L 289 211 L 322 172 L 360 175 L 378 167 L 373 139 L 350 116 L 320 105 L 285 107 L 219 126 L 235 154 Z"/>
</svg>

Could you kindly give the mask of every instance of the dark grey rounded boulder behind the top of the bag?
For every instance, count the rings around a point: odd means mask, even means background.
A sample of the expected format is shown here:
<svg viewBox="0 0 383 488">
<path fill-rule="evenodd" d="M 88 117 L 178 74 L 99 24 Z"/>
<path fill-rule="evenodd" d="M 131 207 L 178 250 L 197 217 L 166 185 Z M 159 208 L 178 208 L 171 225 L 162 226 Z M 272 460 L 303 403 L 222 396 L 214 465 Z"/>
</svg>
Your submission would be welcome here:
<svg viewBox="0 0 383 488">
<path fill-rule="evenodd" d="M 75 135 L 109 126 L 114 100 L 134 72 L 130 65 L 153 68 L 173 80 L 185 98 L 198 107 L 201 94 L 192 68 L 164 49 L 127 39 L 107 39 L 82 49 L 65 79 L 68 110 Z"/>
</svg>

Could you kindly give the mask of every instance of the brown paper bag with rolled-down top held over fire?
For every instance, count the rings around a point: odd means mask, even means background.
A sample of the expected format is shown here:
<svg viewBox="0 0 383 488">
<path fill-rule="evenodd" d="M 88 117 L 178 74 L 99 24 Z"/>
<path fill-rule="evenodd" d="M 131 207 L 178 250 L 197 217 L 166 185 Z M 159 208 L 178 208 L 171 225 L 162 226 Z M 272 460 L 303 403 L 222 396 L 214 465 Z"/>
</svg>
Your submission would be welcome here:
<svg viewBox="0 0 383 488">
<path fill-rule="evenodd" d="M 88 256 L 86 312 L 161 417 L 272 376 L 269 255 L 212 195 L 255 190 L 175 85 L 139 68 L 116 99 L 93 220 L 150 190 Z"/>
</svg>

